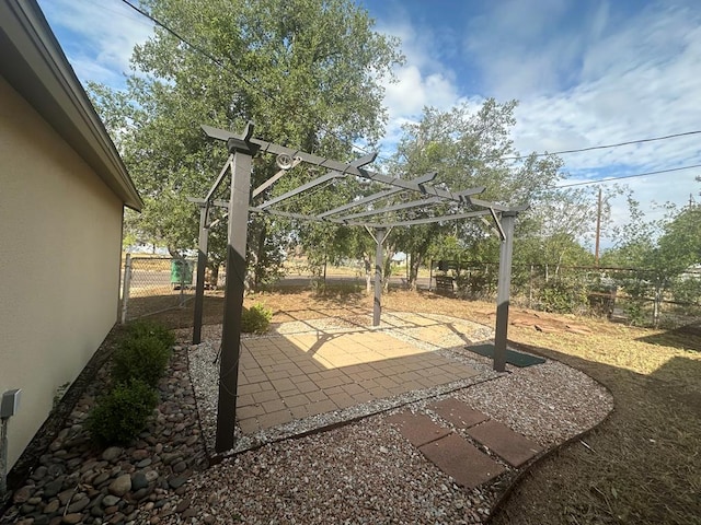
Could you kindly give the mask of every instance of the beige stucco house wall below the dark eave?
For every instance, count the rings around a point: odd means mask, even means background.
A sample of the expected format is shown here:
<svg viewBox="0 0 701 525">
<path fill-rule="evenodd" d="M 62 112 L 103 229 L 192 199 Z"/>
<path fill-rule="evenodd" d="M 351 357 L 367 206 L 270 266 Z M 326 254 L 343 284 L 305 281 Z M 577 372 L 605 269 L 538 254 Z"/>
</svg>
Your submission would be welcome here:
<svg viewBox="0 0 701 525">
<path fill-rule="evenodd" d="M 0 77 L 0 394 L 10 467 L 117 318 L 122 201 Z"/>
</svg>

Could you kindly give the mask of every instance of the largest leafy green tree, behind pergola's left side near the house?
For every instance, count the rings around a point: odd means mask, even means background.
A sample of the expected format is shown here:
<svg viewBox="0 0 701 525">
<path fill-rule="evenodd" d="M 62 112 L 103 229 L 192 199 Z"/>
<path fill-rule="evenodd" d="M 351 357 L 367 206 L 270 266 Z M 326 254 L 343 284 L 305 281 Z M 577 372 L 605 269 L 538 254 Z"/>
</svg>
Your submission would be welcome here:
<svg viewBox="0 0 701 525">
<path fill-rule="evenodd" d="M 134 50 L 137 72 L 126 92 L 90 86 L 145 199 L 143 213 L 129 221 L 139 236 L 173 253 L 196 245 L 197 210 L 186 197 L 204 196 L 226 159 L 200 124 L 237 130 L 253 120 L 266 140 L 341 160 L 352 158 L 353 141 L 380 136 L 381 82 L 401 56 L 398 42 L 376 33 L 350 0 L 143 0 L 141 7 L 217 60 L 157 27 Z M 252 185 L 276 171 L 274 160 L 257 159 Z M 318 175 L 300 166 L 260 198 Z M 342 197 L 326 188 L 314 199 Z M 287 226 L 252 218 L 254 284 L 279 264 Z M 216 266 L 223 247 L 221 236 L 210 243 Z"/>
</svg>

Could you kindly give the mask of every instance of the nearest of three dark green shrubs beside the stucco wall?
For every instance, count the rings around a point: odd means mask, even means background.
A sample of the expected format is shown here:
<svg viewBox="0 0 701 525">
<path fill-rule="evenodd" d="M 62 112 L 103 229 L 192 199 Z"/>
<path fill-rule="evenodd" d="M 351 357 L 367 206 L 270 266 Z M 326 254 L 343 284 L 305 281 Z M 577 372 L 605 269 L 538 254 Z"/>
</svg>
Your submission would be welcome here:
<svg viewBox="0 0 701 525">
<path fill-rule="evenodd" d="M 118 383 L 99 398 L 87 420 L 93 439 L 104 445 L 128 444 L 146 428 L 158 394 L 142 381 Z"/>
</svg>

